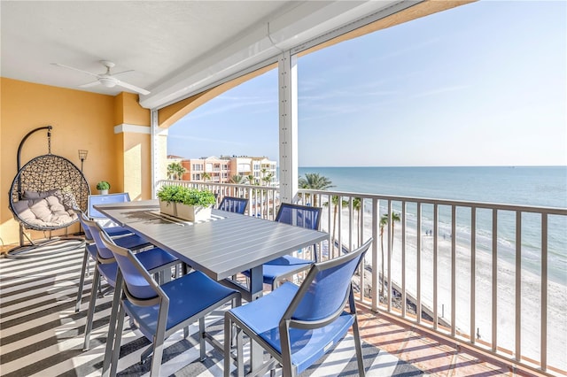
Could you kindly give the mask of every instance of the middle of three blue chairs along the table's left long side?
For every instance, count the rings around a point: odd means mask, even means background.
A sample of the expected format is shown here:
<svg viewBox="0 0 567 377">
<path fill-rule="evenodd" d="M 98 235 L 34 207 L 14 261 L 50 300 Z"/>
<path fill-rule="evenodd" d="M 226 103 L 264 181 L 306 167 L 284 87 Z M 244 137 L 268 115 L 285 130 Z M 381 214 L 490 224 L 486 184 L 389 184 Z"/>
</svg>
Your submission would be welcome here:
<svg viewBox="0 0 567 377">
<path fill-rule="evenodd" d="M 110 240 L 110 237 L 106 234 L 103 227 L 101 227 L 95 220 L 84 219 L 84 224 L 87 226 L 85 227 L 85 230 L 89 229 L 90 235 L 92 235 L 92 238 L 95 241 L 97 251 L 96 255 L 92 256 L 95 258 L 96 266 L 92 277 L 89 312 L 87 312 L 85 340 L 83 344 L 83 349 L 89 350 L 90 332 L 92 331 L 92 322 L 97 304 L 97 290 L 100 285 L 101 277 L 104 277 L 108 285 L 116 290 L 118 265 L 116 264 L 116 259 L 114 259 L 113 252 L 109 250 L 102 241 L 103 237 Z M 116 244 L 124 238 L 126 237 L 118 238 L 111 242 Z M 127 245 L 124 247 L 128 247 L 128 243 L 130 242 L 120 243 L 124 243 Z M 164 281 L 171 278 L 171 268 L 180 263 L 173 255 L 169 254 L 166 250 L 161 250 L 159 248 L 151 248 L 150 250 L 140 251 L 137 254 L 137 258 L 139 258 L 140 263 L 144 265 L 144 268 L 151 271 L 151 273 L 160 273 L 161 280 Z"/>
</svg>

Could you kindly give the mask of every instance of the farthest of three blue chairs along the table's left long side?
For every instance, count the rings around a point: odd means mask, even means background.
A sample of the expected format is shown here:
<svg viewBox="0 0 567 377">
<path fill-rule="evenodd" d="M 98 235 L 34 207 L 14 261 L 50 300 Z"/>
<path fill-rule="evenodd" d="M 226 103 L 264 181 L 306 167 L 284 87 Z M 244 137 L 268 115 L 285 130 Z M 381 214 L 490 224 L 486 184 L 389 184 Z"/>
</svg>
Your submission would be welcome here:
<svg viewBox="0 0 567 377">
<path fill-rule="evenodd" d="M 84 212 L 79 209 L 74 209 L 74 212 L 77 214 L 79 221 L 81 222 L 83 232 L 85 234 L 85 250 L 82 256 L 82 266 L 81 266 L 81 277 L 79 278 L 79 289 L 77 290 L 77 300 L 74 305 L 74 312 L 79 312 L 81 309 L 81 300 L 82 300 L 82 289 L 84 287 L 85 276 L 88 272 L 89 267 L 89 258 L 93 261 L 97 261 L 97 245 L 92 238 L 90 233 L 89 226 L 85 223 L 85 221 L 92 221 L 89 219 Z M 140 250 L 151 246 L 151 243 L 145 240 L 143 237 L 139 235 L 134 235 L 130 230 L 125 227 L 104 227 L 104 230 L 107 235 L 111 236 L 112 238 L 119 238 L 116 242 L 120 245 L 131 246 L 133 250 Z"/>
</svg>

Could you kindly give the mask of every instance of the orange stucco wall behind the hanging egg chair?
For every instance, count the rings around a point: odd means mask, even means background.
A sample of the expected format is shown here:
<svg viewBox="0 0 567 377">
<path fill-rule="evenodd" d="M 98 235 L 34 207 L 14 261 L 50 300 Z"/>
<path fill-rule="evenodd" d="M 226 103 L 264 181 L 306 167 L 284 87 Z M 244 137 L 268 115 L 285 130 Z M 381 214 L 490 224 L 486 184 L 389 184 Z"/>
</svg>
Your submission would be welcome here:
<svg viewBox="0 0 567 377">
<path fill-rule="evenodd" d="M 0 238 L 4 244 L 19 240 L 18 223 L 8 207 L 8 191 L 17 173 L 19 142 L 37 127 L 52 126 L 51 153 L 68 158 L 78 167 L 81 167 L 78 150 L 89 150 L 83 173 L 92 193 L 97 192 L 97 181 L 102 180 L 111 183 L 111 192 L 133 188 L 128 177 L 136 176 L 145 187 L 136 188 L 133 197 L 150 197 L 150 169 L 141 168 L 142 164 L 149 166 L 150 135 L 114 133 L 114 127 L 122 123 L 149 126 L 149 111 L 137 105 L 137 96 L 128 93 L 105 96 L 6 78 L 0 80 Z M 137 150 L 139 160 L 132 154 L 125 158 L 127 150 Z M 47 133 L 36 132 L 24 144 L 21 164 L 47 152 Z M 68 229 L 70 233 L 77 230 L 77 225 Z M 60 233 L 62 231 L 56 234 Z M 40 232 L 31 232 L 31 235 L 43 238 Z"/>
</svg>

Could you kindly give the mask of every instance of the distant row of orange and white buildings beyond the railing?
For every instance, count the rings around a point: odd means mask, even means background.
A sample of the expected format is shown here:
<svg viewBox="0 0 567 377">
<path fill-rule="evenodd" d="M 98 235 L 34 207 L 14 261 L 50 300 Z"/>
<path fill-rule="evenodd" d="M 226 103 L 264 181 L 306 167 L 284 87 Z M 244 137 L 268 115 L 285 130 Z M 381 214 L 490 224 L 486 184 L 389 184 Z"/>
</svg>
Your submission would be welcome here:
<svg viewBox="0 0 567 377">
<path fill-rule="evenodd" d="M 173 158 L 171 159 L 173 162 Z M 245 177 L 246 181 L 252 176 L 252 183 L 261 186 L 275 186 L 276 161 L 266 157 L 221 156 L 217 158 L 184 158 L 181 161 L 185 168 L 183 181 L 209 181 L 228 183 L 234 175 Z"/>
</svg>

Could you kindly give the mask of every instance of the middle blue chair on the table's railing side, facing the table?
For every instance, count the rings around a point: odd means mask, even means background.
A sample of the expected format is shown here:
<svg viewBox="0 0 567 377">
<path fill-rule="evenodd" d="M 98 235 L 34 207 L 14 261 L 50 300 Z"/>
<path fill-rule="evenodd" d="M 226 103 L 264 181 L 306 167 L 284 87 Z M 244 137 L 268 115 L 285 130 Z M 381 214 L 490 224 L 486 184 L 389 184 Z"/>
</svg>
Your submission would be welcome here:
<svg viewBox="0 0 567 377">
<path fill-rule="evenodd" d="M 295 227 L 306 227 L 308 229 L 317 230 L 319 229 L 319 222 L 321 221 L 321 208 L 283 203 L 280 205 L 276 214 L 276 221 Z M 315 247 L 314 254 L 316 261 L 317 253 Z M 262 265 L 264 283 L 269 284 L 272 290 L 276 289 L 279 281 L 307 270 L 313 263 L 313 260 L 296 258 L 291 255 L 270 260 L 268 263 Z M 245 271 L 244 274 L 246 277 L 250 278 L 250 271 Z"/>
</svg>

